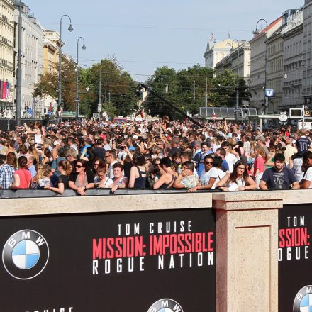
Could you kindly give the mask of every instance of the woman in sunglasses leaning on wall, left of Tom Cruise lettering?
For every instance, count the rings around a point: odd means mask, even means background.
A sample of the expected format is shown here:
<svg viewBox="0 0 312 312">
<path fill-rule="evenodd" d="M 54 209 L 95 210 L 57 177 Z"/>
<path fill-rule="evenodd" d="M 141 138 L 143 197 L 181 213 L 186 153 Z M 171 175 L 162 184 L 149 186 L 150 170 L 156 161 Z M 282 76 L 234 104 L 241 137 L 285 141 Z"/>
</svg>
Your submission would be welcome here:
<svg viewBox="0 0 312 312">
<path fill-rule="evenodd" d="M 76 171 L 70 174 L 68 186 L 82 196 L 87 189 L 94 187 L 94 174 L 87 170 L 87 160 L 77 161 Z"/>
</svg>

